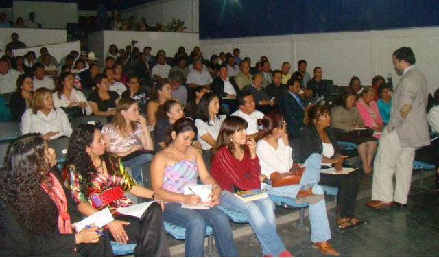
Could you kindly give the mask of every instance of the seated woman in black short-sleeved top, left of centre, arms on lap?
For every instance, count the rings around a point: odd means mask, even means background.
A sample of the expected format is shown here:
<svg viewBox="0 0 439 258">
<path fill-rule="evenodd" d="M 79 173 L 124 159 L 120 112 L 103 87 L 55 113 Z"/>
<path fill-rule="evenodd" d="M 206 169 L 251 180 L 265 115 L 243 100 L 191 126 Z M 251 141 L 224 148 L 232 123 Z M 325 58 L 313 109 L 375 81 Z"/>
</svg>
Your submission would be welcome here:
<svg viewBox="0 0 439 258">
<path fill-rule="evenodd" d="M 116 115 L 116 105 L 119 102 L 119 94 L 116 91 L 108 91 L 107 75 L 98 74 L 95 78 L 96 89 L 88 96 L 88 105 L 93 110 L 93 115 L 107 117 L 111 121 Z"/>
</svg>

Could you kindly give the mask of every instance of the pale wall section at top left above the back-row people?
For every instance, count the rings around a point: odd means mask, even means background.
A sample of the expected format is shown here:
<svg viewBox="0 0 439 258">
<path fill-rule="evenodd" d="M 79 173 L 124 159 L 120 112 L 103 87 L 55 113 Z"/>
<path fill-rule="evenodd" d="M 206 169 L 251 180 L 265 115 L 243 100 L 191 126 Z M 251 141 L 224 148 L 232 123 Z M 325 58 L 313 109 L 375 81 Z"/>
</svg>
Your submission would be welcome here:
<svg viewBox="0 0 439 258">
<path fill-rule="evenodd" d="M 14 21 L 19 16 L 29 19 L 29 12 L 35 13 L 35 20 L 43 28 L 65 29 L 67 23 L 78 22 L 78 3 L 16 0 L 12 2 Z"/>
</svg>

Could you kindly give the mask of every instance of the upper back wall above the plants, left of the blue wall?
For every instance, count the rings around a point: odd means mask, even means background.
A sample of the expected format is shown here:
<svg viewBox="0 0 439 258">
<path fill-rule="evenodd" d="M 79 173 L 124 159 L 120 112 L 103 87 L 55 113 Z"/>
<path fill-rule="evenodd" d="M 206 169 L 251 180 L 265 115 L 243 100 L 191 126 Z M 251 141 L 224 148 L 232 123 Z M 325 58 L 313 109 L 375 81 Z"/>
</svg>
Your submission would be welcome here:
<svg viewBox="0 0 439 258">
<path fill-rule="evenodd" d="M 185 32 L 198 32 L 198 6 L 199 0 L 161 0 L 137 5 L 120 13 L 126 20 L 130 15 L 134 15 L 137 22 L 145 17 L 146 23 L 152 27 L 156 22 L 165 26 L 175 17 L 185 21 Z"/>
</svg>

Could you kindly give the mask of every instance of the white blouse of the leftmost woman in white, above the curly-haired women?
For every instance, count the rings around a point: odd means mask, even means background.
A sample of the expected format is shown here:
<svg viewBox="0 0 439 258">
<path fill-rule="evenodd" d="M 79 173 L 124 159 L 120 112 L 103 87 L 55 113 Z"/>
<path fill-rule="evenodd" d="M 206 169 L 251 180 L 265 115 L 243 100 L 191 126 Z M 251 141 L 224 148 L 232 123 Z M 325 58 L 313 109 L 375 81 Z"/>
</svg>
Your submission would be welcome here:
<svg viewBox="0 0 439 258">
<path fill-rule="evenodd" d="M 56 139 L 63 135 L 70 137 L 72 131 L 69 119 L 61 108 L 52 109 L 47 117 L 41 110 L 34 113 L 32 108 L 28 108 L 21 117 L 21 134 L 34 132 L 44 135 L 47 132 L 60 132 L 51 137 Z"/>
</svg>

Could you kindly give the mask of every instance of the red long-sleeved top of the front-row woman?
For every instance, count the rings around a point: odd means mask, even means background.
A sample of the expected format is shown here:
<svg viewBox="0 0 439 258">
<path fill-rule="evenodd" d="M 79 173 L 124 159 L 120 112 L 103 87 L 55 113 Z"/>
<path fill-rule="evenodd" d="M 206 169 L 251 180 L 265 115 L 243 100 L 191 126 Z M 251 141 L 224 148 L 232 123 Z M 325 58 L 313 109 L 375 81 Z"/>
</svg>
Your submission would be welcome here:
<svg viewBox="0 0 439 258">
<path fill-rule="evenodd" d="M 247 149 L 239 161 L 225 146 L 219 148 L 212 159 L 211 174 L 226 191 L 233 192 L 233 185 L 243 190 L 261 189 L 258 156 L 252 159 Z"/>
</svg>

